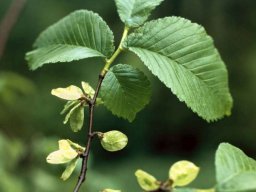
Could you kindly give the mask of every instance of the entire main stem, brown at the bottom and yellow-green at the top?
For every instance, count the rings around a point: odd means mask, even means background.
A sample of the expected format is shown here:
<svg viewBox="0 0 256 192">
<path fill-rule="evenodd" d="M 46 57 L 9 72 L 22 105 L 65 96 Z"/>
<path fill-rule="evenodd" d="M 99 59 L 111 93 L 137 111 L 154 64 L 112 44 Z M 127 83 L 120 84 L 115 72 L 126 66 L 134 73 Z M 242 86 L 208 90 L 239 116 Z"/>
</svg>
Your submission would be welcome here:
<svg viewBox="0 0 256 192">
<path fill-rule="evenodd" d="M 107 74 L 110 65 L 114 62 L 114 60 L 117 58 L 117 56 L 123 51 L 122 43 L 125 40 L 125 38 L 127 37 L 128 31 L 129 31 L 129 28 L 125 27 L 120 44 L 119 44 L 117 50 L 115 51 L 115 53 L 112 55 L 112 57 L 106 61 L 106 64 L 99 75 L 98 85 L 95 90 L 94 97 L 92 100 L 89 101 L 89 128 L 88 128 L 88 133 L 87 133 L 87 144 L 86 144 L 86 149 L 85 149 L 84 153 L 81 154 L 82 167 L 81 167 L 80 175 L 78 177 L 78 181 L 75 186 L 74 192 L 79 191 L 83 182 L 86 179 L 91 143 L 92 143 L 93 137 L 96 135 L 96 132 L 93 132 L 94 108 L 96 106 L 96 100 L 99 95 L 103 79 L 104 79 L 105 75 Z"/>
</svg>

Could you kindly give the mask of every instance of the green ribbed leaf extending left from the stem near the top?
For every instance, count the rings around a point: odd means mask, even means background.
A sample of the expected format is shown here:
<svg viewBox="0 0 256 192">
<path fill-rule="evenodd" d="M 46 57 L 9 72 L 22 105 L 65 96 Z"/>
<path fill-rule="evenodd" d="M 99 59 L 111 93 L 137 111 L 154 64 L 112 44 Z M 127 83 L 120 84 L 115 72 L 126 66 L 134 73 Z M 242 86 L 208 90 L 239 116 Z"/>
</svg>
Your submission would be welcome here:
<svg viewBox="0 0 256 192">
<path fill-rule="evenodd" d="M 114 51 L 113 39 L 98 14 L 79 10 L 42 32 L 34 44 L 37 49 L 27 53 L 26 59 L 34 70 L 48 63 L 109 57 Z"/>
</svg>

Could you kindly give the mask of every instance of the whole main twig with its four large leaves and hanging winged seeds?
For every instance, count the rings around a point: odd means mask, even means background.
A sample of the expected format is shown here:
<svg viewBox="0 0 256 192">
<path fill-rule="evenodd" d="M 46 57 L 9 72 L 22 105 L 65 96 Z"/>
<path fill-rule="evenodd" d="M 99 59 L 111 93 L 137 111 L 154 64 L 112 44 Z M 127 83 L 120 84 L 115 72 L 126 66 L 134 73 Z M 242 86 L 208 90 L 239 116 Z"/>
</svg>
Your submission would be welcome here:
<svg viewBox="0 0 256 192">
<path fill-rule="evenodd" d="M 32 70 L 45 64 L 90 57 L 100 57 L 105 64 L 95 90 L 86 82 L 82 82 L 82 89 L 71 85 L 52 90 L 52 95 L 67 101 L 61 114 L 66 113 L 64 123 L 69 122 L 74 132 L 82 129 L 84 108 L 89 108 L 85 147 L 60 140 L 59 150 L 47 158 L 49 163 L 68 163 L 63 179 L 70 176 L 82 159 L 76 192 L 86 177 L 93 138 L 98 137 L 108 151 L 121 150 L 128 142 L 119 131 L 93 131 L 95 107 L 104 105 L 114 115 L 132 122 L 150 101 L 151 86 L 146 75 L 130 64 L 114 65 L 121 52 L 137 55 L 180 101 L 206 121 L 230 115 L 228 74 L 212 38 L 202 26 L 180 17 L 147 22 L 151 11 L 162 1 L 115 0 L 125 24 L 117 49 L 113 33 L 103 19 L 91 11 L 79 10 L 42 32 L 34 44 L 35 50 L 26 55 Z"/>
</svg>

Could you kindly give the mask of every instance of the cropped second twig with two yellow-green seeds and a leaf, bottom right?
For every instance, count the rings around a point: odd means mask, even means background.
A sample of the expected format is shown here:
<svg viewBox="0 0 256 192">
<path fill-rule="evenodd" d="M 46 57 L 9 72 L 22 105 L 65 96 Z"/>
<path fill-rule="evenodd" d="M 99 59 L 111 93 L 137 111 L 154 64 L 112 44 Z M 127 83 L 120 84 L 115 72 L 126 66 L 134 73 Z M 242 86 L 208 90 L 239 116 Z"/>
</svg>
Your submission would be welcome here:
<svg viewBox="0 0 256 192">
<path fill-rule="evenodd" d="M 138 183 L 145 191 L 175 192 L 252 192 L 256 190 L 256 161 L 240 149 L 221 143 L 215 155 L 216 185 L 210 189 L 181 188 L 191 183 L 199 168 L 188 161 L 179 161 L 171 166 L 169 178 L 158 181 L 152 175 L 138 170 Z"/>
</svg>

